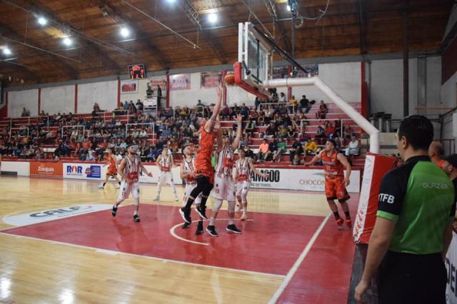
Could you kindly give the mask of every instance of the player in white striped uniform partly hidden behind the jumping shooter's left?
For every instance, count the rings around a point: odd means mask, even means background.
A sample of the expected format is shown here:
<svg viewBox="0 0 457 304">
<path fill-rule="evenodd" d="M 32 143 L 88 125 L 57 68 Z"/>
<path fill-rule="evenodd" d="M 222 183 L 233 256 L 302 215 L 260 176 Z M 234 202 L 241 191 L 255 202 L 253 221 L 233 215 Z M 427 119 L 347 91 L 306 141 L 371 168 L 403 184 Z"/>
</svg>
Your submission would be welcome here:
<svg viewBox="0 0 457 304">
<path fill-rule="evenodd" d="M 183 204 L 186 205 L 189 196 L 191 195 L 192 190 L 197 186 L 197 181 L 195 179 L 195 158 L 194 158 L 194 148 L 191 146 L 185 146 L 183 148 L 184 158 L 181 163 L 181 178 L 183 181 L 186 181 L 186 190 L 184 191 L 184 201 Z M 199 206 L 201 202 L 201 196 L 198 196 L 195 199 L 195 205 Z M 185 222 L 182 226 L 183 229 L 189 227 L 191 224 Z M 195 231 L 196 235 L 201 235 L 203 233 L 203 218 L 200 218 L 197 230 Z"/>
</svg>

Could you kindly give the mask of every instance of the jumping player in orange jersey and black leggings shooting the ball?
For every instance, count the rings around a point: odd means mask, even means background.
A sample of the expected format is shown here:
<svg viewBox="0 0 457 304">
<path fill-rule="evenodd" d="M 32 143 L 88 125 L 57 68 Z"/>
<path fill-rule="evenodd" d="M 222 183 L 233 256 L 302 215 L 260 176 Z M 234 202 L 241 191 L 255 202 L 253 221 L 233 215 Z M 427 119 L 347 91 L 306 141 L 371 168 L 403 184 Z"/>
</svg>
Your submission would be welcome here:
<svg viewBox="0 0 457 304">
<path fill-rule="evenodd" d="M 209 193 L 213 188 L 214 183 L 214 169 L 211 165 L 211 153 L 213 153 L 214 148 L 214 130 L 216 133 L 220 132 L 219 119 L 216 119 L 221 111 L 222 103 L 222 88 L 218 88 L 217 91 L 218 101 L 216 106 L 214 106 L 213 113 L 211 117 L 206 120 L 206 118 L 199 118 L 197 123 L 200 127 L 200 151 L 197 154 L 195 160 L 195 170 L 196 170 L 196 181 L 197 186 L 192 190 L 191 195 L 187 199 L 186 206 L 179 209 L 179 213 L 183 217 L 184 221 L 191 223 L 191 206 L 194 203 L 195 198 L 201 193 L 201 203 L 200 206 L 195 208 L 196 212 L 199 213 L 201 218 L 206 219 L 206 201 L 208 200 Z M 217 123 L 216 123 L 217 120 Z"/>
</svg>

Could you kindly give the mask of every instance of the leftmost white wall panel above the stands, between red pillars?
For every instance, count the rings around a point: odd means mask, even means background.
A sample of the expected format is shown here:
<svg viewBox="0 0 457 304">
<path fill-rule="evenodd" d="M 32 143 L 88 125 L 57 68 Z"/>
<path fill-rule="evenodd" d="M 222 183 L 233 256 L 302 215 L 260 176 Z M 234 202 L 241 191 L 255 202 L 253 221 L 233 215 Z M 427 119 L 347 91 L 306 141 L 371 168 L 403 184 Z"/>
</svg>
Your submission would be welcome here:
<svg viewBox="0 0 457 304">
<path fill-rule="evenodd" d="M 30 111 L 31 116 L 38 115 L 38 89 L 11 91 L 8 93 L 8 116 L 21 117 L 22 108 Z"/>
</svg>

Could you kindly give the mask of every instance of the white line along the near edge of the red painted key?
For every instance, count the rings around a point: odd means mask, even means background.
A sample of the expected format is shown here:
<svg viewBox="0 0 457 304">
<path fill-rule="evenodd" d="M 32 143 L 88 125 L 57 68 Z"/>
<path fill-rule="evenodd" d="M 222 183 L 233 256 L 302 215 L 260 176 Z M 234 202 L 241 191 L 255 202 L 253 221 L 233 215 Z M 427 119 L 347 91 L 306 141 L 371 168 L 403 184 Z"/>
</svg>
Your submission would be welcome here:
<svg viewBox="0 0 457 304">
<path fill-rule="evenodd" d="M 182 260 L 169 260 L 167 258 L 156 258 L 154 256 L 148 256 L 148 255 L 138 255 L 135 253 L 123 253 L 121 251 L 114 251 L 114 250 L 106 250 L 106 249 L 101 249 L 101 248 L 96 248 L 96 247 L 91 247 L 91 246 L 85 246 L 85 245 L 76 245 L 76 244 L 71 244 L 71 243 L 64 243 L 58 240 L 46 240 L 44 238 L 34 238 L 31 236 L 25 236 L 25 235 L 16 235 L 12 233 L 4 233 L 0 231 L 0 235 L 8 235 L 9 237 L 13 238 L 26 238 L 29 240 L 40 240 L 46 243 L 51 243 L 51 244 L 59 244 L 59 245 L 66 245 L 69 247 L 75 247 L 75 248 L 82 248 L 82 249 L 90 249 L 93 250 L 95 253 L 102 253 L 102 254 L 109 254 L 109 255 L 129 255 L 135 258 L 146 258 L 146 259 L 151 259 L 151 260 L 159 260 L 162 263 L 178 263 L 178 264 L 184 264 L 184 265 L 189 265 L 189 266 L 194 266 L 196 268 L 210 268 L 210 269 L 217 269 L 217 270 L 226 270 L 226 271 L 234 271 L 238 273 L 246 273 L 249 275 L 268 275 L 271 277 L 276 277 L 276 278 L 285 278 L 286 275 L 277 275 L 275 273 L 261 273 L 259 271 L 252 271 L 252 270 L 243 270 L 243 269 L 236 269 L 236 268 L 226 268 L 226 267 L 219 267 L 219 266 L 214 266 L 214 265 L 205 265 L 205 264 L 197 264 L 197 263 L 191 263 L 191 262 L 184 262 Z M 116 253 L 116 254 L 115 254 Z"/>
</svg>

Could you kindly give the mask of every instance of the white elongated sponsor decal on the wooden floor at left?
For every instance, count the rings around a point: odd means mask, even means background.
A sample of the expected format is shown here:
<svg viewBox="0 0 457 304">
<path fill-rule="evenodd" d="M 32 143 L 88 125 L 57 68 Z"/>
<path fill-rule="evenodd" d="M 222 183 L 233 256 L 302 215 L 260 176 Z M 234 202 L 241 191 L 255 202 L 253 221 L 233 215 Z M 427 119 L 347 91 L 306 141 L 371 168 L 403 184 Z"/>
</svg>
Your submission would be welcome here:
<svg viewBox="0 0 457 304">
<path fill-rule="evenodd" d="M 49 210 L 34 211 L 30 213 L 16 214 L 5 216 L 4 223 L 13 226 L 25 226 L 36 223 L 58 220 L 59 218 L 69 218 L 70 216 L 79 216 L 85 213 L 111 209 L 112 205 L 87 203 L 79 206 L 61 207 Z"/>
</svg>

